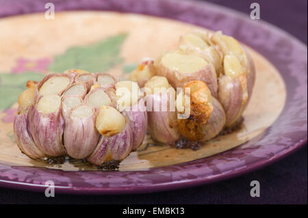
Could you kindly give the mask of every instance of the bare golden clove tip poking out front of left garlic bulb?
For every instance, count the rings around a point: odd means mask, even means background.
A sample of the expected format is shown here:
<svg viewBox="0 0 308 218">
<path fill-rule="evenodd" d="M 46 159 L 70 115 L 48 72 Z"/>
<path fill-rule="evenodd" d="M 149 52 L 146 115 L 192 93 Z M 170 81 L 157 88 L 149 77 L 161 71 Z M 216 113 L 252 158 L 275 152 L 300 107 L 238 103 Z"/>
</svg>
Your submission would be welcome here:
<svg viewBox="0 0 308 218">
<path fill-rule="evenodd" d="M 114 107 L 102 106 L 99 109 L 95 126 L 101 135 L 105 137 L 116 135 L 123 131 L 125 125 L 124 116 Z"/>
</svg>

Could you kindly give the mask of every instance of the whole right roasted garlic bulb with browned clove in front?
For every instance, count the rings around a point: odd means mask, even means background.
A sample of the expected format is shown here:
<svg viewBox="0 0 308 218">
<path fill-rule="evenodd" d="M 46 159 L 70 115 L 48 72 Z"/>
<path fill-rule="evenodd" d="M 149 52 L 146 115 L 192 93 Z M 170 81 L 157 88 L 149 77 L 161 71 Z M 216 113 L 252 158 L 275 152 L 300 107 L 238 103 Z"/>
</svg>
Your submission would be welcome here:
<svg viewBox="0 0 308 218">
<path fill-rule="evenodd" d="M 146 74 L 147 83 L 153 80 L 151 77 L 155 78 L 155 74 L 156 77 L 165 78 L 165 87 L 170 83 L 175 90 L 190 88 L 189 94 L 184 94 L 183 90 L 177 92 L 177 111 L 172 111 L 172 114 L 177 114 L 172 116 L 172 131 L 177 131 L 176 137 L 166 128 L 161 131 L 162 126 L 155 123 L 160 118 L 149 119 L 149 132 L 161 142 L 172 142 L 180 137 L 207 141 L 218 135 L 223 128 L 233 128 L 240 124 L 255 83 L 253 59 L 237 40 L 221 31 L 193 32 L 181 36 L 177 49 L 163 53 L 148 68 L 151 74 Z M 135 70 L 131 78 L 138 75 L 141 77 L 142 74 L 144 72 Z M 162 86 L 163 79 L 160 80 L 161 83 L 140 85 L 153 90 L 155 85 Z M 179 119 L 179 114 L 183 113 L 184 96 L 190 97 L 185 112 L 190 113 L 188 117 Z M 162 97 L 156 98 L 162 100 Z M 149 118 L 159 114 L 167 113 L 148 112 Z M 170 122 L 170 118 L 163 120 Z M 157 133 L 161 132 L 165 134 L 163 139 L 157 137 Z"/>
</svg>

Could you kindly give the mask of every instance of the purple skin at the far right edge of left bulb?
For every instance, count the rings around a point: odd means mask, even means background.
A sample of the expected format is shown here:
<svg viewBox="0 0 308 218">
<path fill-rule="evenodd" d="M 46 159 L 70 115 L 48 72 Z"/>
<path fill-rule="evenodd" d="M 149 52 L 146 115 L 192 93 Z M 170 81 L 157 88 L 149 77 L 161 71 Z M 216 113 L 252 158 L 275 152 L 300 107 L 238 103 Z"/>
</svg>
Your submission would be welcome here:
<svg viewBox="0 0 308 218">
<path fill-rule="evenodd" d="M 144 100 L 140 98 L 138 104 L 133 105 L 129 111 L 123 111 L 123 115 L 127 115 L 133 133 L 133 150 L 136 150 L 141 144 L 146 135 L 148 126 L 148 116 Z"/>
</svg>

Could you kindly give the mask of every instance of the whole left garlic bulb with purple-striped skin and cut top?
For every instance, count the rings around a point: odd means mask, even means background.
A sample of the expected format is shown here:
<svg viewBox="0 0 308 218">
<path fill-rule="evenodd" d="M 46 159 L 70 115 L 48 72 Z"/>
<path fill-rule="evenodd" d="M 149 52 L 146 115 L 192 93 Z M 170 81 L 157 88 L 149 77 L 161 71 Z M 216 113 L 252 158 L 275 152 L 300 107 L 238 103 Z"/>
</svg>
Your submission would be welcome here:
<svg viewBox="0 0 308 218">
<path fill-rule="evenodd" d="M 95 165 L 122 161 L 142 144 L 147 125 L 138 96 L 125 101 L 125 111 L 117 109 L 123 100 L 118 89 L 127 84 L 132 82 L 84 70 L 29 81 L 14 120 L 18 148 L 32 159 L 68 155 Z"/>
</svg>

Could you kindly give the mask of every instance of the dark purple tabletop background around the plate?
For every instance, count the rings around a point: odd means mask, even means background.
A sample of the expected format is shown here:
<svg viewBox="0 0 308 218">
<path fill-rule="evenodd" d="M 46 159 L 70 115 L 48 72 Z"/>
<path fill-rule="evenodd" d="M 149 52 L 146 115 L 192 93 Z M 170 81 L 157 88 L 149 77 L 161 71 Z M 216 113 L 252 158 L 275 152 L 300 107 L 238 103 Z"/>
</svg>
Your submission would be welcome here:
<svg viewBox="0 0 308 218">
<path fill-rule="evenodd" d="M 57 1 L 57 0 L 55 0 Z M 93 1 L 93 0 L 92 0 Z M 52 2 L 52 1 L 51 1 Z M 246 14 L 250 13 L 249 5 L 257 2 L 261 6 L 261 19 L 268 21 L 307 44 L 307 1 L 305 0 L 211 0 L 211 3 L 225 5 Z M 37 4 L 36 4 L 37 3 Z M 44 5 L 31 1 L 31 7 Z M 18 7 L 18 0 L 0 0 L 0 17 L 10 15 L 2 7 Z M 9 9 L 9 8 L 7 8 Z M 42 9 L 38 9 L 42 10 Z M 20 13 L 27 10 L 20 8 Z M 259 180 L 261 197 L 250 196 L 250 182 Z M 307 146 L 282 161 L 257 172 L 218 182 L 211 185 L 152 193 L 143 195 L 121 196 L 86 196 L 57 195 L 45 197 L 44 193 L 0 189 L 2 204 L 307 204 Z"/>
</svg>

